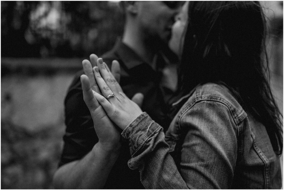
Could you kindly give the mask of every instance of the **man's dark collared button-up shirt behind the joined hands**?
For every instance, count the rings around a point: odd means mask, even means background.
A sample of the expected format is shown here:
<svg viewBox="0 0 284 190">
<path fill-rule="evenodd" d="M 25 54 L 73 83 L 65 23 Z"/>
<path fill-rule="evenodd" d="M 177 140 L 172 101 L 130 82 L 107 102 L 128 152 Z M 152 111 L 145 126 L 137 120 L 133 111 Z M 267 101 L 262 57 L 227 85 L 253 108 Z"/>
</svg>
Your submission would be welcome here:
<svg viewBox="0 0 284 190">
<path fill-rule="evenodd" d="M 159 85 L 162 74 L 152 69 L 149 64 L 120 40 L 102 58 L 109 68 L 114 59 L 119 61 L 121 68 L 120 85 L 124 93 L 129 98 L 132 98 L 137 92 L 143 93 L 142 110 L 167 128 L 170 124 L 170 118 L 166 115 L 168 107 L 164 101 L 165 91 Z M 83 100 L 80 82 L 82 74 L 84 74 L 83 69 L 75 75 L 65 98 L 66 133 L 63 137 L 64 148 L 59 166 L 81 159 L 98 142 L 90 112 Z M 130 158 L 129 144 L 122 142 L 120 156 L 114 164 L 104 188 L 144 189 L 140 182 L 138 170 L 128 168 L 127 161 Z"/>
</svg>

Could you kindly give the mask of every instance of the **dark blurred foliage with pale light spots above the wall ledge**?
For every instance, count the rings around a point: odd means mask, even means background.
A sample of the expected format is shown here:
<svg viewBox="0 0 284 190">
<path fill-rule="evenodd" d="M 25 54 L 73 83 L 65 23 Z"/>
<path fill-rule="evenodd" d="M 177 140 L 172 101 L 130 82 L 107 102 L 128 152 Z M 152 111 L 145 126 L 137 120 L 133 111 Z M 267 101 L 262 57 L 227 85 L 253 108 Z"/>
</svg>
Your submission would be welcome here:
<svg viewBox="0 0 284 190">
<path fill-rule="evenodd" d="M 122 35 L 117 1 L 1 1 L 2 57 L 84 57 Z"/>
</svg>

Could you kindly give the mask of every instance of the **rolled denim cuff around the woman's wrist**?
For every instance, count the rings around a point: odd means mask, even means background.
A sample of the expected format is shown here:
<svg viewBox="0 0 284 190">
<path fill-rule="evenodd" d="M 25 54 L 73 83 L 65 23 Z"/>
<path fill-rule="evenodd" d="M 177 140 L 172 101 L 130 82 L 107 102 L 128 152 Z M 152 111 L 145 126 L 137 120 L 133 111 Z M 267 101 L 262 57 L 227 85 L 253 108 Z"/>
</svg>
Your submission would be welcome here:
<svg viewBox="0 0 284 190">
<path fill-rule="evenodd" d="M 121 135 L 129 139 L 134 150 L 132 155 L 134 155 L 159 128 L 161 126 L 157 125 L 146 112 L 143 112 L 122 131 Z"/>
</svg>

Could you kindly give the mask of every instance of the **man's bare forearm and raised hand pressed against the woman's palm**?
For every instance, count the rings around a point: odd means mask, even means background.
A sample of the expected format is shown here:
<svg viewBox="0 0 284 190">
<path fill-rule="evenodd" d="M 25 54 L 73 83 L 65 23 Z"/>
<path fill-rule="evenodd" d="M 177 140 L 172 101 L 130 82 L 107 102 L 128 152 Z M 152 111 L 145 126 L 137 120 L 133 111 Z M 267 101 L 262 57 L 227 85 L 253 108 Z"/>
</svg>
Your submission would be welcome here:
<svg viewBox="0 0 284 190">
<path fill-rule="evenodd" d="M 92 54 L 91 62 L 83 61 L 84 72 L 89 78 L 82 75 L 81 82 L 83 97 L 91 112 L 99 142 L 80 160 L 69 162 L 57 169 L 54 174 L 56 189 L 103 189 L 120 154 L 120 132 L 109 120 L 101 105 L 93 98 L 93 93 L 100 93 L 93 74 L 93 66 L 96 66 L 97 59 L 98 57 Z M 112 72 L 117 78 L 116 81 L 119 81 L 118 62 L 112 64 Z"/>
</svg>

